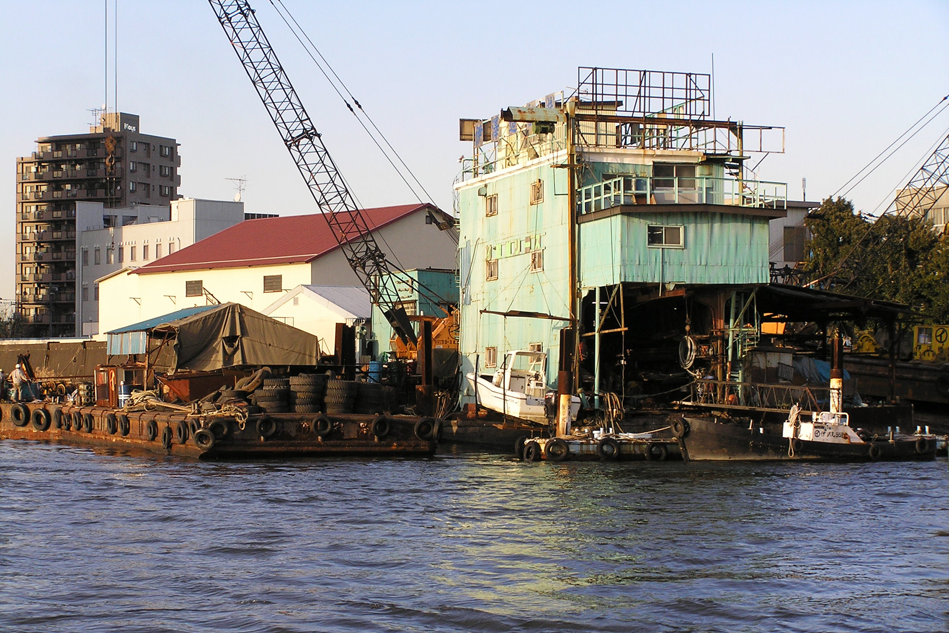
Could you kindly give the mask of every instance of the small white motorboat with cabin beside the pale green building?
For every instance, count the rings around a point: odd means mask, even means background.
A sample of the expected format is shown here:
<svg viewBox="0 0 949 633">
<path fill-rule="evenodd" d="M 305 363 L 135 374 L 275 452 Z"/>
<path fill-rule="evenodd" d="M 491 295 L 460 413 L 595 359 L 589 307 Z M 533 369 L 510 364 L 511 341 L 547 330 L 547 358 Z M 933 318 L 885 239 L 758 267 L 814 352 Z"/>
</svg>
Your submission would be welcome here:
<svg viewBox="0 0 949 633">
<path fill-rule="evenodd" d="M 547 386 L 547 354 L 514 350 L 504 357 L 504 363 L 493 374 L 466 378 L 474 384 L 474 395 L 481 406 L 512 418 L 547 423 L 545 398 L 553 393 Z M 570 418 L 580 411 L 580 399 L 570 400 Z"/>
</svg>

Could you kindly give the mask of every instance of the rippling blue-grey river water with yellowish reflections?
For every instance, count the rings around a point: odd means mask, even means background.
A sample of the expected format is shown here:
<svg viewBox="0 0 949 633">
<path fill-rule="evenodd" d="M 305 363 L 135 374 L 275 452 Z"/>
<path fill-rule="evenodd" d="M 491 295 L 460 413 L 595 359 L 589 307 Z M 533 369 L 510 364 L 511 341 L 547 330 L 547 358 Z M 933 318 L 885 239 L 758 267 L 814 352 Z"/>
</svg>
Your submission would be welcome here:
<svg viewBox="0 0 949 633">
<path fill-rule="evenodd" d="M 947 631 L 945 459 L 199 463 L 0 442 L 2 631 Z"/>
</svg>

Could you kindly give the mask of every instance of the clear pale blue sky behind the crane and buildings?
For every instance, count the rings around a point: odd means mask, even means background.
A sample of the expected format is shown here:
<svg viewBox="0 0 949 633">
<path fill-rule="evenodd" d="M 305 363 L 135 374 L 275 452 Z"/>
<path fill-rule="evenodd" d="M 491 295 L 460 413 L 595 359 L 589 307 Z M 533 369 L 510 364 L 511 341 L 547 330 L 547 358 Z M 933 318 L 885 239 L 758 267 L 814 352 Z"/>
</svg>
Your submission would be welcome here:
<svg viewBox="0 0 949 633">
<path fill-rule="evenodd" d="M 110 0 L 111 7 L 113 0 Z M 759 176 L 832 194 L 949 94 L 949 2 L 472 3 L 284 0 L 439 206 L 451 208 L 459 118 L 576 84 L 578 65 L 708 72 L 716 115 L 787 128 Z M 356 195 L 413 201 L 329 92 L 269 0 L 253 1 Z M 40 136 L 84 131 L 104 100 L 103 2 L 6 3 L 0 38 L 0 297 L 13 292 L 15 158 Z M 181 195 L 315 213 L 214 13 L 201 0 L 119 0 L 118 104 L 181 143 Z M 111 75 L 111 71 L 110 71 Z M 111 81 L 111 80 L 110 80 Z M 110 103 L 112 97 L 109 97 Z M 949 127 L 943 114 L 850 197 L 871 211 Z"/>
</svg>

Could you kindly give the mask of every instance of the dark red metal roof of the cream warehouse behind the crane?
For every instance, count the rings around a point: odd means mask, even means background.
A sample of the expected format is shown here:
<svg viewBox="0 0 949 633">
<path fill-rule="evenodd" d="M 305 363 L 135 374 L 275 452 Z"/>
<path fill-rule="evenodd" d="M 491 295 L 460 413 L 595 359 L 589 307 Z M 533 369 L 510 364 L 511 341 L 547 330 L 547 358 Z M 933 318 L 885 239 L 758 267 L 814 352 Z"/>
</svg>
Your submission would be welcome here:
<svg viewBox="0 0 949 633">
<path fill-rule="evenodd" d="M 403 204 L 363 209 L 363 217 L 376 230 L 426 208 L 435 210 L 430 204 Z M 323 214 L 263 217 L 244 220 L 133 272 L 297 264 L 310 262 L 338 248 Z"/>
</svg>

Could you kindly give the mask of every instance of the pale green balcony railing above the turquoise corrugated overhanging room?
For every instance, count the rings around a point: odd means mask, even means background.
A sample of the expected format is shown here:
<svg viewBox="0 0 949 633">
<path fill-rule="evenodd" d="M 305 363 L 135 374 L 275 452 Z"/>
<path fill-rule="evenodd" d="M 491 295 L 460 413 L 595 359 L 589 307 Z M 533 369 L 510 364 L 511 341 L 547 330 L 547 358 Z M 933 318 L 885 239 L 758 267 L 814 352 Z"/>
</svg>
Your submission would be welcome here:
<svg viewBox="0 0 949 633">
<path fill-rule="evenodd" d="M 786 209 L 788 184 L 722 177 L 623 176 L 577 190 L 577 214 L 624 205 L 720 204 Z"/>
</svg>

